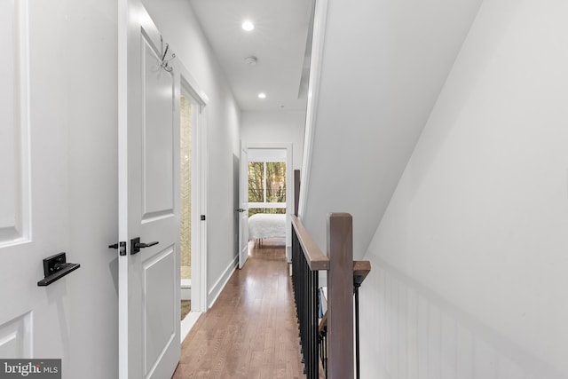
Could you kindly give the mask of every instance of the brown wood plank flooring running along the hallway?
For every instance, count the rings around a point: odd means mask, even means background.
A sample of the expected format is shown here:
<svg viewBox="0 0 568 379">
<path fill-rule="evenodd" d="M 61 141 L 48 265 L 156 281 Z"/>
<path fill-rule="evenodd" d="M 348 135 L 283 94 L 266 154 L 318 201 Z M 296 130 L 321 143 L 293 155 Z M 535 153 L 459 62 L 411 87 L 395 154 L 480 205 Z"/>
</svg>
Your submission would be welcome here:
<svg viewBox="0 0 568 379">
<path fill-rule="evenodd" d="M 280 241 L 279 241 L 280 242 Z M 304 378 L 285 247 L 252 247 L 182 343 L 181 378 Z"/>
</svg>

